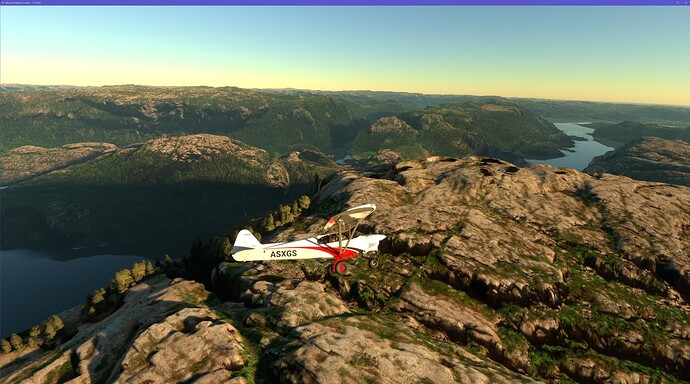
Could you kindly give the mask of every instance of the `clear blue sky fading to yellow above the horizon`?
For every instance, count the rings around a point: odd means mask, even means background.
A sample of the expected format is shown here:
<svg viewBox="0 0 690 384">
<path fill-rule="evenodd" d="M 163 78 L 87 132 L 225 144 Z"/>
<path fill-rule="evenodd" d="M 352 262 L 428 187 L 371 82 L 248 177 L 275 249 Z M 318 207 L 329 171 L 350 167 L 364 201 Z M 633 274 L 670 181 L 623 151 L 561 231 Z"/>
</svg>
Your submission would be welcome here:
<svg viewBox="0 0 690 384">
<path fill-rule="evenodd" d="M 3 7 L 0 82 L 690 105 L 688 7 Z"/>
</svg>

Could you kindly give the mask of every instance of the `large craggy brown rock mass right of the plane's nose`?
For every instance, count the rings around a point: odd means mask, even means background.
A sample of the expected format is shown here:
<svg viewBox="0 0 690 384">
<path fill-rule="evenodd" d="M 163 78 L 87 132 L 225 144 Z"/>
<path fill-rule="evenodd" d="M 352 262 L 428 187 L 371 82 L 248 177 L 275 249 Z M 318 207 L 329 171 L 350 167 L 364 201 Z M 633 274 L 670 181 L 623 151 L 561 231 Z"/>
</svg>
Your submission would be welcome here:
<svg viewBox="0 0 690 384">
<path fill-rule="evenodd" d="M 391 295 L 375 278 L 350 284 L 367 285 L 384 306 L 399 300 L 431 332 L 478 344 L 519 372 L 645 382 L 645 371 L 631 368 L 642 364 L 689 379 L 690 344 L 677 319 L 690 321 L 690 189 L 481 157 L 376 172 L 342 172 L 323 186 L 315 198 L 323 216 L 376 204 L 363 230 L 388 236 L 380 250 L 390 264 L 410 263 L 495 317 L 478 332 L 468 314 L 476 305 L 453 295 L 406 278 Z M 554 355 L 575 353 L 577 343 L 606 356 L 606 375 L 588 357 L 564 365 L 558 356 L 567 355 Z"/>
</svg>

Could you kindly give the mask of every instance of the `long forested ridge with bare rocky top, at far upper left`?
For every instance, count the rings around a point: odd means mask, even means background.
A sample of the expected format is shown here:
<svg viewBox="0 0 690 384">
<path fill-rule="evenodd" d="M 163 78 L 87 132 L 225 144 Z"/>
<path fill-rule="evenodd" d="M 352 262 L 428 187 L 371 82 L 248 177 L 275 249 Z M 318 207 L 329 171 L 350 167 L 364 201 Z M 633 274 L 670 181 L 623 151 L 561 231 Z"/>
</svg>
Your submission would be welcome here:
<svg viewBox="0 0 690 384">
<path fill-rule="evenodd" d="M 6 87 L 0 153 L 77 142 L 140 143 L 166 135 L 228 135 L 269 152 L 326 149 L 366 126 L 355 104 L 325 95 L 225 87 Z M 362 112 L 363 113 L 363 112 Z"/>
</svg>

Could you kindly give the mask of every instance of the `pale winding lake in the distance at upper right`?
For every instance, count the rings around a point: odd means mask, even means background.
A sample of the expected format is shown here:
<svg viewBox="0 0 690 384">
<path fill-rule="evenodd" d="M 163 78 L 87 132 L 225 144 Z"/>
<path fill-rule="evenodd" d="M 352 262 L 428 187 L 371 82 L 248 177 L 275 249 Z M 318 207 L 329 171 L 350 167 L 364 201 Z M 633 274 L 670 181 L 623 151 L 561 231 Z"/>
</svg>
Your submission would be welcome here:
<svg viewBox="0 0 690 384">
<path fill-rule="evenodd" d="M 592 161 L 595 156 L 600 156 L 613 150 L 613 147 L 601 144 L 592 139 L 592 132 L 594 132 L 592 128 L 583 127 L 576 123 L 554 123 L 554 125 L 568 136 L 577 136 L 587 140 L 576 141 L 575 146 L 563 150 L 562 152 L 565 154 L 563 157 L 546 160 L 526 159 L 528 163 L 546 163 L 554 167 L 574 168 L 581 171 L 589 165 L 590 161 Z"/>
</svg>

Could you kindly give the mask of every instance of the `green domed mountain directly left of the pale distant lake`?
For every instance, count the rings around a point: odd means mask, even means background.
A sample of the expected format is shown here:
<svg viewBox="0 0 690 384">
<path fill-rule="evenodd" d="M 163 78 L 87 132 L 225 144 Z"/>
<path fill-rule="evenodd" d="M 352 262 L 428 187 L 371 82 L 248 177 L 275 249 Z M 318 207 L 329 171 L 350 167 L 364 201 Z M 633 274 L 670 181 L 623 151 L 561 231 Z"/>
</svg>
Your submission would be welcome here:
<svg viewBox="0 0 690 384">
<path fill-rule="evenodd" d="M 572 145 L 567 135 L 542 117 L 494 98 L 382 118 L 357 135 L 352 151 L 366 156 L 388 148 L 405 158 L 482 154 L 514 160 L 562 156 L 559 149 Z"/>
</svg>

